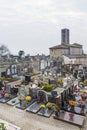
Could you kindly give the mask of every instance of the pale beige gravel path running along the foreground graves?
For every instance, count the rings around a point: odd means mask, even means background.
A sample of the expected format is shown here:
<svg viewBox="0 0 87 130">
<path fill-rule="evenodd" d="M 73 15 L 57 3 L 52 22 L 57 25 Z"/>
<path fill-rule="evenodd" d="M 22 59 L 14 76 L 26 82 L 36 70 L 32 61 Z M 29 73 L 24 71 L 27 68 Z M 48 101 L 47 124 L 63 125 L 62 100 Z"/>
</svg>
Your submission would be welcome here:
<svg viewBox="0 0 87 130">
<path fill-rule="evenodd" d="M 46 118 L 2 103 L 0 118 L 21 127 L 22 130 L 79 130 L 77 126 L 53 119 L 53 115 Z"/>
</svg>

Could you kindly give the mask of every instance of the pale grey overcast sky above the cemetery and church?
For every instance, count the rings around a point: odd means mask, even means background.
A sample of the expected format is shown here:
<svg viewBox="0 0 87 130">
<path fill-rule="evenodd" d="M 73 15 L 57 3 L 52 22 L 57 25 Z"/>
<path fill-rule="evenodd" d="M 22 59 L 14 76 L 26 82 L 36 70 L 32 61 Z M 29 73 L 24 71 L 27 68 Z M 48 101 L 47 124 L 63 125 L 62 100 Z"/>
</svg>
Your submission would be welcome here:
<svg viewBox="0 0 87 130">
<path fill-rule="evenodd" d="M 87 52 L 87 0 L 0 0 L 0 45 L 13 54 L 49 54 L 63 28 Z"/>
</svg>

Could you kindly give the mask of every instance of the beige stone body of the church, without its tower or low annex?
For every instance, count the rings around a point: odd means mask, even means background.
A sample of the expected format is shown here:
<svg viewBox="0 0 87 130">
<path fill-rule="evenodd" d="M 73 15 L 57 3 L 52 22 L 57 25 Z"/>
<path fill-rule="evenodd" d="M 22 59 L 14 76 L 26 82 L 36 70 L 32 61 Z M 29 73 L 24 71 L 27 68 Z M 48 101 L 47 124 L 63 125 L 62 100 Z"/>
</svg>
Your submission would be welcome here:
<svg viewBox="0 0 87 130">
<path fill-rule="evenodd" d="M 63 54 L 68 55 L 82 55 L 83 54 L 83 47 L 80 44 L 74 43 L 69 45 L 58 45 L 49 48 L 50 49 L 50 57 L 61 57 Z"/>
</svg>

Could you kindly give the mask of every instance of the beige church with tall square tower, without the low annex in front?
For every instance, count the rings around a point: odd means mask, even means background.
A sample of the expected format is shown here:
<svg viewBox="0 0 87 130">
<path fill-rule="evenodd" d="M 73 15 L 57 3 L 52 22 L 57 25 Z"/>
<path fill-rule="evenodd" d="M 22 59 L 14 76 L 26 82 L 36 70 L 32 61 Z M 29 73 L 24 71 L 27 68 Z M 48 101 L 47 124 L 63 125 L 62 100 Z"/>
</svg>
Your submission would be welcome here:
<svg viewBox="0 0 87 130">
<path fill-rule="evenodd" d="M 78 43 L 69 43 L 69 29 L 61 30 L 61 44 L 50 47 L 50 57 L 61 57 L 62 55 L 82 55 L 83 46 Z"/>
</svg>

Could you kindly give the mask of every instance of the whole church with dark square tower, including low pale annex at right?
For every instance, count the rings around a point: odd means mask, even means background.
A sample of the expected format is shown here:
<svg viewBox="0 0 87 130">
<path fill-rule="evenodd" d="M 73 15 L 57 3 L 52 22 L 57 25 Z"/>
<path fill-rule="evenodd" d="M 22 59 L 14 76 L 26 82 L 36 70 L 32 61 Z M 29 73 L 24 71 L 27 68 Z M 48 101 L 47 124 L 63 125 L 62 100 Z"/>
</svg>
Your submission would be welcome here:
<svg viewBox="0 0 87 130">
<path fill-rule="evenodd" d="M 87 54 L 78 43 L 70 44 L 69 29 L 61 30 L 61 44 L 49 48 L 50 58 L 63 58 L 64 64 L 82 64 L 87 66 Z"/>
</svg>

